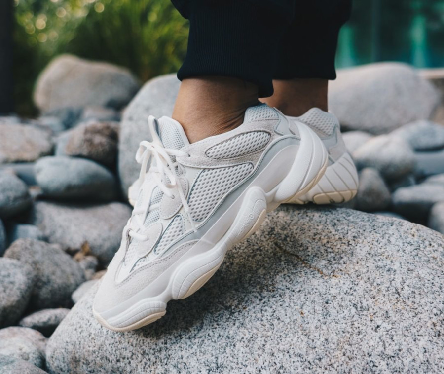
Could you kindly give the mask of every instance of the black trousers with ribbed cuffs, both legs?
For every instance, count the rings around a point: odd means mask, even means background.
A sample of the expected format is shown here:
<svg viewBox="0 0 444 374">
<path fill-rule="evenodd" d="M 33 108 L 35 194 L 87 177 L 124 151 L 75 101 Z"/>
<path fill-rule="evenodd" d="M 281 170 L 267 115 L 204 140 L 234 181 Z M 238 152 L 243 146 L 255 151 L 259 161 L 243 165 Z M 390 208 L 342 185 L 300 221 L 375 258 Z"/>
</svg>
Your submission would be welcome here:
<svg viewBox="0 0 444 374">
<path fill-rule="evenodd" d="M 352 0 L 172 0 L 190 22 L 178 78 L 221 75 L 273 94 L 273 79 L 334 79 Z"/>
</svg>

